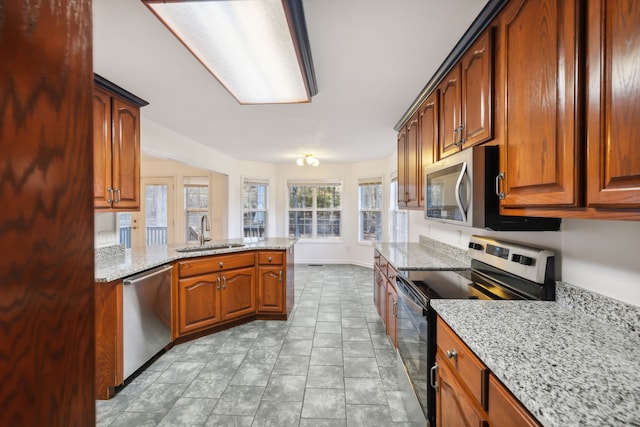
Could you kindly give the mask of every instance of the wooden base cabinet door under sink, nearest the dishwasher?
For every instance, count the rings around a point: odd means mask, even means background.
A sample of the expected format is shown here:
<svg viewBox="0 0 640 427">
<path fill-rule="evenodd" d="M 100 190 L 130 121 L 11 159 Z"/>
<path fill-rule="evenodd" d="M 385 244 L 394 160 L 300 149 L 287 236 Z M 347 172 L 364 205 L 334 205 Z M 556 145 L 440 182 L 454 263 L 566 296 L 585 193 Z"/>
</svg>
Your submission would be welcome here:
<svg viewBox="0 0 640 427">
<path fill-rule="evenodd" d="M 221 320 L 220 275 L 193 276 L 178 281 L 180 334 L 212 326 Z"/>
</svg>

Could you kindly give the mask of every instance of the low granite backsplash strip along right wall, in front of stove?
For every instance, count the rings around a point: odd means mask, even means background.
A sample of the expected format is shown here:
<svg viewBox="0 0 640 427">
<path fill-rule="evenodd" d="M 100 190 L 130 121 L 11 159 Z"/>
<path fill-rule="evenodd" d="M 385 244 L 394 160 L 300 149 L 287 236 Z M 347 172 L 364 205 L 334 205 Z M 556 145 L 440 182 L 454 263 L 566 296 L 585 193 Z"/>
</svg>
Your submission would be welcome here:
<svg viewBox="0 0 640 427">
<path fill-rule="evenodd" d="M 566 282 L 556 282 L 558 304 L 595 317 L 640 336 L 640 307 L 588 291 Z"/>
</svg>

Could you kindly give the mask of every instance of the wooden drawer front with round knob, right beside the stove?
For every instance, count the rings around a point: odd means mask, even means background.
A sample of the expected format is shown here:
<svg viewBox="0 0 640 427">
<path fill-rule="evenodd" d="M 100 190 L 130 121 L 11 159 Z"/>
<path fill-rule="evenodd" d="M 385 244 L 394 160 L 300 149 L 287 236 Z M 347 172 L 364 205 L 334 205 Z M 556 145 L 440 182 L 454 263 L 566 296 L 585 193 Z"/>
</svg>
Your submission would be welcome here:
<svg viewBox="0 0 640 427">
<path fill-rule="evenodd" d="M 452 370 L 460 376 L 473 397 L 486 409 L 489 374 L 487 367 L 440 318 L 436 326 L 436 340 L 438 351 L 442 353 Z M 456 356 L 448 357 L 447 354 Z"/>
</svg>

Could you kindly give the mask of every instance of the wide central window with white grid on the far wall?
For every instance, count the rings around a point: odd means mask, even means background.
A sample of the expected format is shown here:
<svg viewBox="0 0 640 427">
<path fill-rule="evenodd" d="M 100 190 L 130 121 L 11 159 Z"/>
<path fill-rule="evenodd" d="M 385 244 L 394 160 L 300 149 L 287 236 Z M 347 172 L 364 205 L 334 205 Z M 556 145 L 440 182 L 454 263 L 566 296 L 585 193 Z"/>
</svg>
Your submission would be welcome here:
<svg viewBox="0 0 640 427">
<path fill-rule="evenodd" d="M 289 187 L 289 237 L 337 239 L 342 228 L 342 184 L 292 183 Z"/>
</svg>

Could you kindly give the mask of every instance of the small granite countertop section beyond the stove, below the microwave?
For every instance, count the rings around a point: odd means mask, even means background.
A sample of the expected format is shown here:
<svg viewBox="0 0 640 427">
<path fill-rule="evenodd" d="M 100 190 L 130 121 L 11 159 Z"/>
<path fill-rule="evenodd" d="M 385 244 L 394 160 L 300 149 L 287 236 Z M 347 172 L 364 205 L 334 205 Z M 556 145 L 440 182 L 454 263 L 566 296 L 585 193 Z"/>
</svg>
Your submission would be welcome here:
<svg viewBox="0 0 640 427">
<path fill-rule="evenodd" d="M 420 243 L 375 243 L 374 248 L 396 270 L 467 270 L 471 263 L 464 249 L 420 236 Z"/>
</svg>

